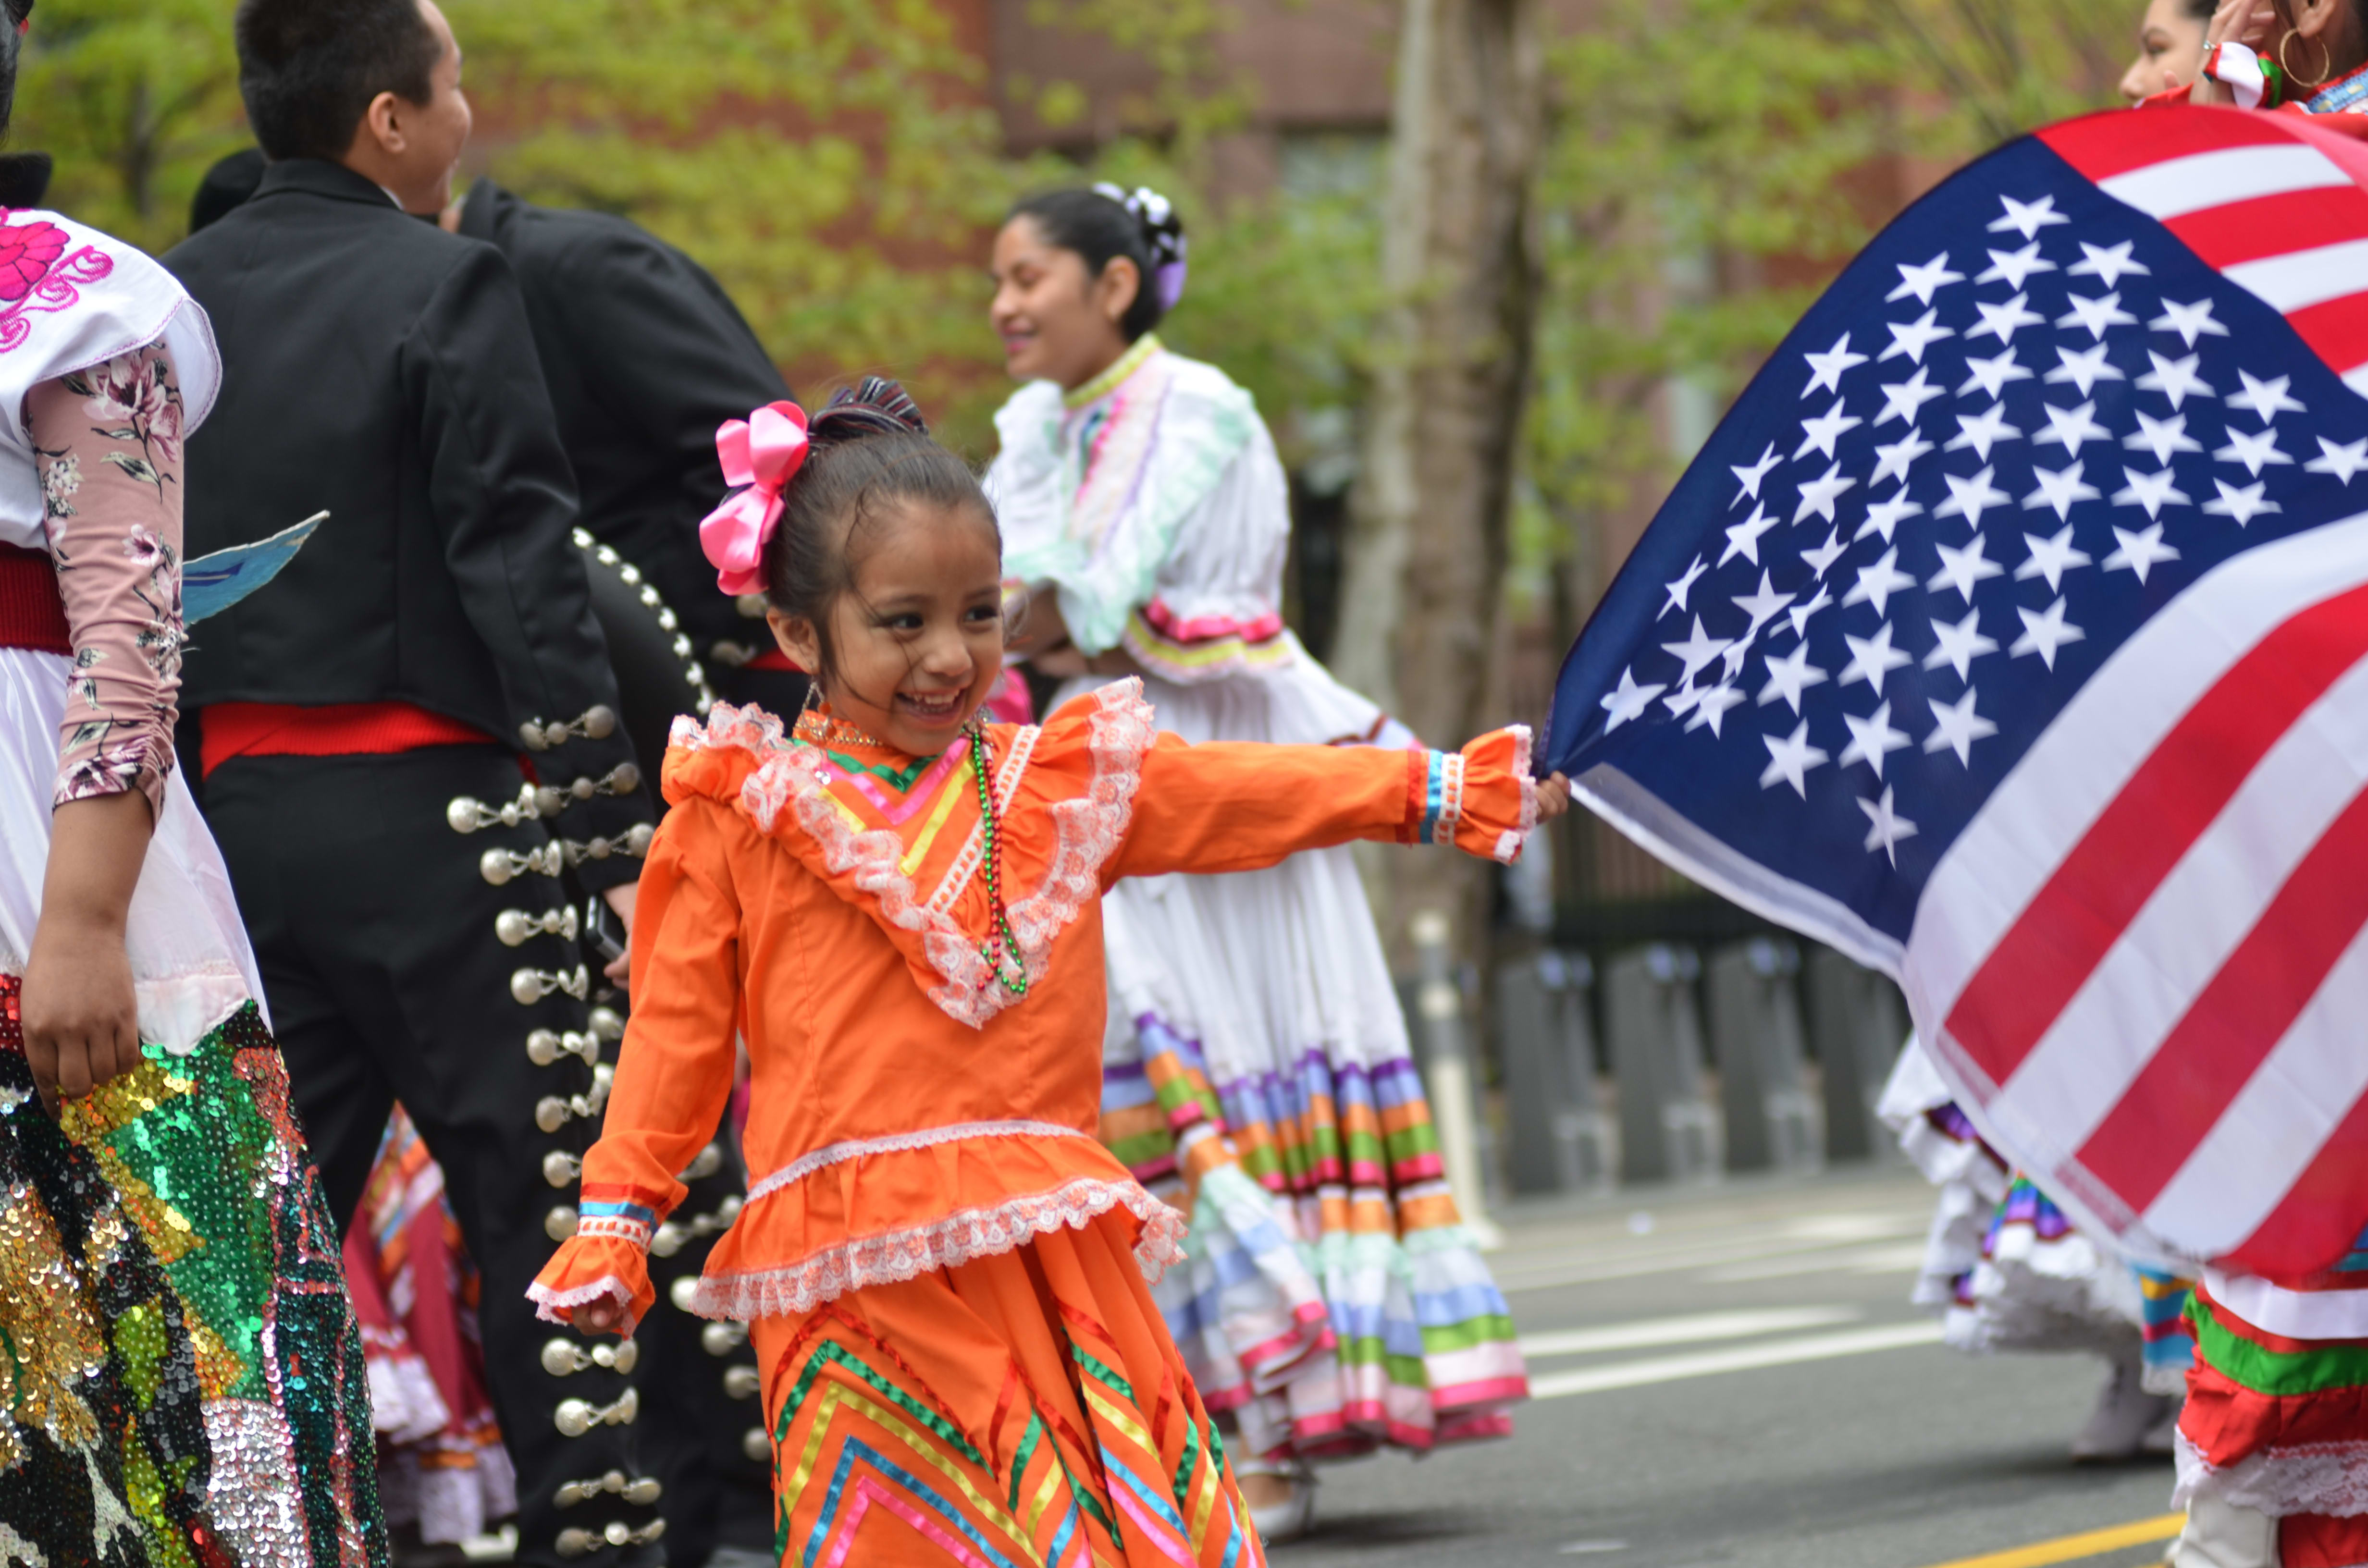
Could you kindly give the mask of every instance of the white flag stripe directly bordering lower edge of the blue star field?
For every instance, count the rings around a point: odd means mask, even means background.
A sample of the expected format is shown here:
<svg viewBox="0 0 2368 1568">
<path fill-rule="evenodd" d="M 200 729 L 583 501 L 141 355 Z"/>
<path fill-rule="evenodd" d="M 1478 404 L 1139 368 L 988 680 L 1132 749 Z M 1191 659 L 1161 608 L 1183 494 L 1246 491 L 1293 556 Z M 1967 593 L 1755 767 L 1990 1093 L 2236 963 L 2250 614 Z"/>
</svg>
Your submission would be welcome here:
<svg viewBox="0 0 2368 1568">
<path fill-rule="evenodd" d="M 2316 156 L 2316 154 L 2314 154 Z M 2129 775 L 2264 635 L 2368 583 L 2368 512 L 2221 561 L 2171 599 L 2065 703 L 1932 867 L 1902 985 L 1942 1023 Z"/>
</svg>

